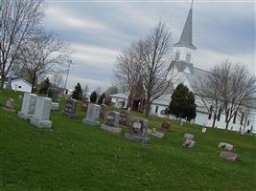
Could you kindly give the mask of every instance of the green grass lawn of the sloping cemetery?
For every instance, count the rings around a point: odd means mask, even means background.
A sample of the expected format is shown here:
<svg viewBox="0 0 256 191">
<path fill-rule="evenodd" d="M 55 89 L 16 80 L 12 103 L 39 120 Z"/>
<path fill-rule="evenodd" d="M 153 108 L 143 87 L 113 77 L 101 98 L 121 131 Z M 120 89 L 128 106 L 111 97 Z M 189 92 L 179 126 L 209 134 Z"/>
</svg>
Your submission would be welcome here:
<svg viewBox="0 0 256 191">
<path fill-rule="evenodd" d="M 0 106 L 12 97 L 19 111 L 18 95 L 0 93 Z M 218 129 L 202 134 L 199 126 L 172 121 L 173 132 L 143 146 L 83 124 L 80 104 L 78 111 L 77 119 L 52 112 L 47 131 L 0 108 L 0 190 L 256 190 L 255 137 Z M 150 126 L 165 120 L 150 117 Z M 192 149 L 182 146 L 185 132 L 196 136 Z M 220 159 L 220 141 L 234 144 L 241 161 Z"/>
</svg>

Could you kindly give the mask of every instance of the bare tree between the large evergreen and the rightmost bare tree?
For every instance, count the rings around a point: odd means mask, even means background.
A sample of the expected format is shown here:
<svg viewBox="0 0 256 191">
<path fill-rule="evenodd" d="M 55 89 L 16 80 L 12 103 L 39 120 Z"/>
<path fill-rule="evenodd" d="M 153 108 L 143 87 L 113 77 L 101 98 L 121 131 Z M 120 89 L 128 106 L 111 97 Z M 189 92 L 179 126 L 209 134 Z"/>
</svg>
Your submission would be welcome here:
<svg viewBox="0 0 256 191">
<path fill-rule="evenodd" d="M 199 76 L 193 84 L 193 89 L 198 99 L 198 107 L 206 109 L 208 118 L 213 118 L 212 127 L 216 120 L 221 117 L 221 79 L 219 68 L 214 67 L 209 74 Z"/>
</svg>

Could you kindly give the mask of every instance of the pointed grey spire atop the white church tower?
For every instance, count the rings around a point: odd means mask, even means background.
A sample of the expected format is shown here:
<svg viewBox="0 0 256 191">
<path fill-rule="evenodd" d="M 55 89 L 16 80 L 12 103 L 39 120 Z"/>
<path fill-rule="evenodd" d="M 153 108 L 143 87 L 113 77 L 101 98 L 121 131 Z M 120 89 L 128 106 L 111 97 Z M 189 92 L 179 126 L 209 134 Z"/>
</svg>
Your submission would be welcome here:
<svg viewBox="0 0 256 191">
<path fill-rule="evenodd" d="M 197 47 L 195 47 L 192 43 L 192 11 L 193 11 L 193 0 L 191 2 L 191 8 L 189 10 L 189 14 L 188 14 L 186 23 L 184 25 L 183 31 L 181 33 L 181 36 L 179 38 L 179 41 L 174 44 L 175 47 L 187 47 L 192 50 L 197 49 Z"/>
</svg>

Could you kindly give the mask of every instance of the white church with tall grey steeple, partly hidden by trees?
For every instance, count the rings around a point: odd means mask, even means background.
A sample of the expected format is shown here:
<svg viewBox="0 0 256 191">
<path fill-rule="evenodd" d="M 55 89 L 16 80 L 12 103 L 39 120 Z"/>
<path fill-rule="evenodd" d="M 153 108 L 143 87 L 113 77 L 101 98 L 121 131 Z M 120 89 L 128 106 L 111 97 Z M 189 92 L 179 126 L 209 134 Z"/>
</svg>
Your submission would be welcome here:
<svg viewBox="0 0 256 191">
<path fill-rule="evenodd" d="M 182 83 L 186 85 L 192 92 L 193 84 L 198 77 L 203 77 L 205 74 L 209 74 L 208 71 L 198 69 L 192 63 L 192 55 L 197 49 L 196 46 L 193 45 L 192 42 L 192 17 L 193 17 L 193 8 L 191 6 L 183 31 L 181 32 L 179 41 L 174 44 L 174 52 L 175 58 L 172 61 L 172 65 L 175 67 L 176 73 L 182 78 Z M 175 84 L 176 86 L 177 84 Z M 213 123 L 213 118 L 209 117 L 208 111 L 206 108 L 200 106 L 199 100 L 196 95 L 196 104 L 197 104 L 197 117 L 195 118 L 194 123 L 198 125 L 203 125 L 207 127 L 211 127 Z M 164 116 L 164 111 L 169 107 L 172 95 L 161 96 L 160 98 L 154 100 L 151 104 L 151 115 L 155 115 L 158 117 L 166 117 Z M 126 108 L 128 104 L 128 95 L 126 94 L 116 94 L 111 95 L 111 102 L 114 107 L 118 108 Z M 232 118 L 228 129 L 233 131 L 247 131 L 253 128 L 253 132 L 256 133 L 256 96 L 253 99 L 253 103 L 251 105 L 250 115 L 246 119 L 245 129 L 244 129 L 244 117 L 236 117 Z M 224 129 L 225 127 L 225 116 L 221 115 L 220 118 L 216 120 L 216 127 Z"/>
</svg>

